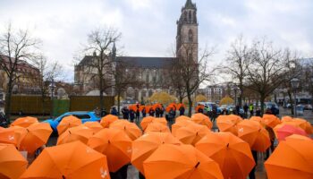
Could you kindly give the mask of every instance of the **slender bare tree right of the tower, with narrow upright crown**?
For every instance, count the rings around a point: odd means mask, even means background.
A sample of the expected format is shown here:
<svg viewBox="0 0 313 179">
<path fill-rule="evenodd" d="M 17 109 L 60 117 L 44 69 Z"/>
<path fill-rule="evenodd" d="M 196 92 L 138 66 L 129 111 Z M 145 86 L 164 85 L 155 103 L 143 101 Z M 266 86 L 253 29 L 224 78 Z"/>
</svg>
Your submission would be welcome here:
<svg viewBox="0 0 313 179">
<path fill-rule="evenodd" d="M 237 83 L 236 86 L 238 86 L 240 90 L 238 98 L 240 107 L 242 106 L 242 98 L 244 94 L 244 81 L 247 76 L 246 63 L 248 57 L 249 47 L 240 36 L 232 43 L 225 60 L 225 64 L 219 67 L 219 71 L 232 75 L 233 81 Z"/>
</svg>

